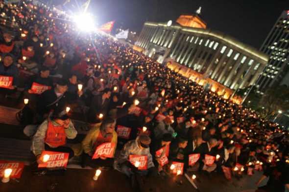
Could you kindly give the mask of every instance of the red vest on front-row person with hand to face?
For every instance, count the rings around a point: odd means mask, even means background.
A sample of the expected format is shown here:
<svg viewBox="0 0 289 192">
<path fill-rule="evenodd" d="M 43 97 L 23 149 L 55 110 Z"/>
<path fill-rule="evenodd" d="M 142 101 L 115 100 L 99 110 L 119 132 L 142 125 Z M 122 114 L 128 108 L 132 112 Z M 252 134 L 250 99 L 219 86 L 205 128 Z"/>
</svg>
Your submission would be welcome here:
<svg viewBox="0 0 289 192">
<path fill-rule="evenodd" d="M 63 126 L 54 126 L 48 119 L 48 129 L 46 131 L 45 143 L 57 148 L 66 144 L 66 134 Z"/>
</svg>

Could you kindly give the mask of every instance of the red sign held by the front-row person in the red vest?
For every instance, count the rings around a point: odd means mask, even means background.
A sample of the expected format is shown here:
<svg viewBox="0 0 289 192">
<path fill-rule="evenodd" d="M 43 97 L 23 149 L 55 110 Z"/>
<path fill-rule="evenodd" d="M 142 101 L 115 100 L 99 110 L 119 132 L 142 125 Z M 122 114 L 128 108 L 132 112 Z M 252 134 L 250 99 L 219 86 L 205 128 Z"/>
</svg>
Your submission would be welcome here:
<svg viewBox="0 0 289 192">
<path fill-rule="evenodd" d="M 49 155 L 47 162 L 39 164 L 38 168 L 66 167 L 69 153 L 44 150 L 42 151 L 41 156 L 45 158 L 45 155 Z"/>
</svg>

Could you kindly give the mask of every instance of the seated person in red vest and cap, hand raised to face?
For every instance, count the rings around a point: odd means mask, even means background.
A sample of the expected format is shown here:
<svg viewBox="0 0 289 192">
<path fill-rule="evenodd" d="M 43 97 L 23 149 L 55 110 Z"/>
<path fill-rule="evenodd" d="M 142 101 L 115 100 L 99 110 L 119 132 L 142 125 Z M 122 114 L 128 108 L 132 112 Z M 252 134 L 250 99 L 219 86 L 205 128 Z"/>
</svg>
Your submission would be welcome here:
<svg viewBox="0 0 289 192">
<path fill-rule="evenodd" d="M 36 157 L 37 163 L 43 162 L 41 153 L 43 150 L 67 152 L 69 158 L 74 156 L 74 151 L 64 147 L 66 139 L 74 139 L 77 131 L 74 128 L 65 109 L 56 108 L 52 114 L 38 128 L 32 139 L 31 151 Z"/>
</svg>

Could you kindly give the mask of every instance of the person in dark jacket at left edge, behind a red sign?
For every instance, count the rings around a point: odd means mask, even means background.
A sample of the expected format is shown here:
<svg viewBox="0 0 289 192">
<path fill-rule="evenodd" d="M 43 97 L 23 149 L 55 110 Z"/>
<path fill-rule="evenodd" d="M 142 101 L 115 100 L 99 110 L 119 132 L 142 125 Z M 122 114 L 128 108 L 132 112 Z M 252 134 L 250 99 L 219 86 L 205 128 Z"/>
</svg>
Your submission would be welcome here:
<svg viewBox="0 0 289 192">
<path fill-rule="evenodd" d="M 0 94 L 6 97 L 7 94 L 13 94 L 17 91 L 19 84 L 19 69 L 14 64 L 14 56 L 10 53 L 3 54 L 0 62 L 0 75 L 6 77 L 13 77 L 12 85 L 7 88 L 0 87 Z"/>
</svg>

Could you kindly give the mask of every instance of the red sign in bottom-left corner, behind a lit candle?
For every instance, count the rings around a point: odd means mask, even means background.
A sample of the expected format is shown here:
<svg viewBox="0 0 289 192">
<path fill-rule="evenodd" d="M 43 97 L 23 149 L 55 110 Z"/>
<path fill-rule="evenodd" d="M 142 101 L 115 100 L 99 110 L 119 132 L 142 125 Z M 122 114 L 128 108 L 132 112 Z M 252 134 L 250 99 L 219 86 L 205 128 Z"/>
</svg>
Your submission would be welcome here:
<svg viewBox="0 0 289 192">
<path fill-rule="evenodd" d="M 20 178 L 24 168 L 24 163 L 13 161 L 0 161 L 0 177 L 4 177 L 4 171 L 11 169 L 10 178 Z"/>
</svg>

